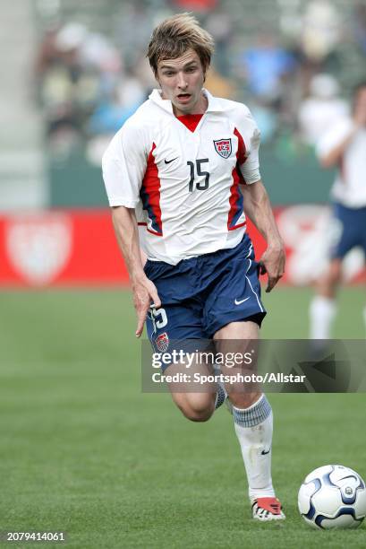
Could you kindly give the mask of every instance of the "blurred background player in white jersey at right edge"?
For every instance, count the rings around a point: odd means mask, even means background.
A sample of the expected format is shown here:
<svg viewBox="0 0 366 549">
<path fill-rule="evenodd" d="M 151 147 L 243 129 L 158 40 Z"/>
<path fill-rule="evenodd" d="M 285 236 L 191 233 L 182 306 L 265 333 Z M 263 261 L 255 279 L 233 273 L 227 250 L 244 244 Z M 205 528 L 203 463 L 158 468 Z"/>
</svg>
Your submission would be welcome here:
<svg viewBox="0 0 366 549">
<path fill-rule="evenodd" d="M 337 167 L 332 187 L 334 241 L 328 269 L 319 278 L 311 301 L 311 339 L 328 339 L 336 316 L 336 290 L 342 261 L 352 248 L 361 247 L 366 257 L 366 81 L 353 93 L 353 116 L 340 118 L 329 127 L 317 146 L 324 168 Z M 363 309 L 366 326 L 366 307 Z"/>
</svg>

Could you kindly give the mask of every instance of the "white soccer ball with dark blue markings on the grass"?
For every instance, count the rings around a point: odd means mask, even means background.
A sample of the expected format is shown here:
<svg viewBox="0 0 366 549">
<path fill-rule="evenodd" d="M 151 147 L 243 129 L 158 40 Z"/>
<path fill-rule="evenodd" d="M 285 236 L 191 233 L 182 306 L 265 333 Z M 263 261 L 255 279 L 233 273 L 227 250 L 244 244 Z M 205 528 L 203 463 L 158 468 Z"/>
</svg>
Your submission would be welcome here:
<svg viewBox="0 0 366 549">
<path fill-rule="evenodd" d="M 298 505 L 311 527 L 356 528 L 366 515 L 365 483 L 349 467 L 318 467 L 303 481 Z"/>
</svg>

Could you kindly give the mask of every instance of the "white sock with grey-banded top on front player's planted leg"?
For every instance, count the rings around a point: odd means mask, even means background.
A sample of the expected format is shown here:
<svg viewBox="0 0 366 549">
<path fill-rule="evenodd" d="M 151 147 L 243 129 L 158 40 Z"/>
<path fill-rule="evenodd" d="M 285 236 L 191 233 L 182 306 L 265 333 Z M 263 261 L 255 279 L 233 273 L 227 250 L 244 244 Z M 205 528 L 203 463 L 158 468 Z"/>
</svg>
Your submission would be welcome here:
<svg viewBox="0 0 366 549">
<path fill-rule="evenodd" d="M 249 408 L 233 406 L 233 415 L 248 478 L 249 498 L 253 501 L 274 497 L 271 476 L 273 414 L 267 397 L 260 396 Z"/>
</svg>

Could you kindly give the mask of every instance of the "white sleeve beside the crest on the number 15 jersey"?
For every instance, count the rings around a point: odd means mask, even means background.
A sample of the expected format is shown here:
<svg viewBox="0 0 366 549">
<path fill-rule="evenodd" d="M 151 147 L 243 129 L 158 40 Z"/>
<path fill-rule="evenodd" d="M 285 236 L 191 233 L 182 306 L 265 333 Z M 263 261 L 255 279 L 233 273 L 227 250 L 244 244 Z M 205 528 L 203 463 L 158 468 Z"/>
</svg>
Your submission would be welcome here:
<svg viewBox="0 0 366 549">
<path fill-rule="evenodd" d="M 251 116 L 251 111 L 245 109 L 237 125 L 243 136 L 245 146 L 245 161 L 239 164 L 243 179 L 247 185 L 260 180 L 260 129 Z"/>
</svg>

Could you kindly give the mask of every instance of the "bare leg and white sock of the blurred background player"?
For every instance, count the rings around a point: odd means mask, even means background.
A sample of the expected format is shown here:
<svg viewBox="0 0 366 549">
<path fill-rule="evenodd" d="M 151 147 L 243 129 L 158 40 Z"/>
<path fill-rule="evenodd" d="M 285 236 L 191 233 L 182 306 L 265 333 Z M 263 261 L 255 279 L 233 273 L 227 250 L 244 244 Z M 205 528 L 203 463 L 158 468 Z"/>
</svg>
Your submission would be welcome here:
<svg viewBox="0 0 366 549">
<path fill-rule="evenodd" d="M 311 339 L 329 339 L 336 317 L 336 288 L 341 278 L 342 259 L 332 259 L 328 271 L 319 279 L 317 295 L 311 301 Z"/>
</svg>

